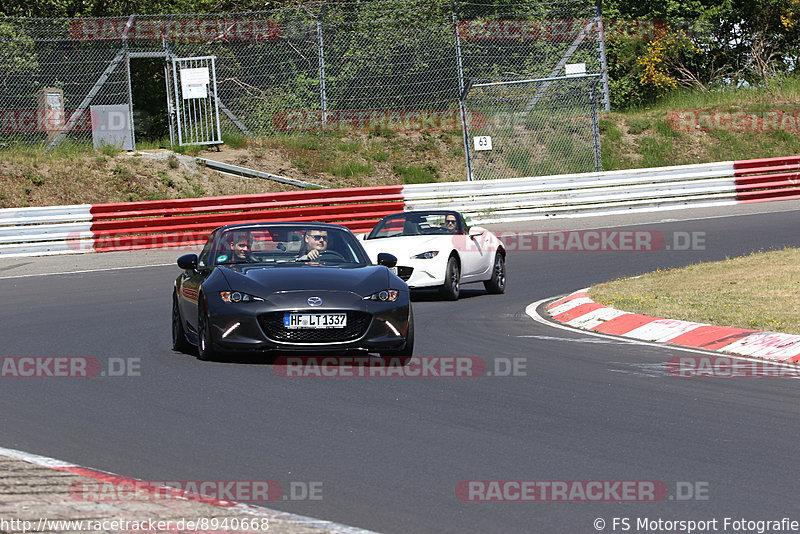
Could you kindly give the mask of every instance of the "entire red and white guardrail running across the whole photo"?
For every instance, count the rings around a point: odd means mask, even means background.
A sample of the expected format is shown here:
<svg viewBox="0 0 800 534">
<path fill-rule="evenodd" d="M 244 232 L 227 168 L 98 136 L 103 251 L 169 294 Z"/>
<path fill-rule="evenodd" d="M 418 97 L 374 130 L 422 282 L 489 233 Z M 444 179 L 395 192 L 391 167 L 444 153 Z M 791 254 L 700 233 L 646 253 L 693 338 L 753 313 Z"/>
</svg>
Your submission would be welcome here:
<svg viewBox="0 0 800 534">
<path fill-rule="evenodd" d="M 195 246 L 223 224 L 320 221 L 369 230 L 384 215 L 447 208 L 510 222 L 800 198 L 800 156 L 653 169 L 0 209 L 0 257 Z"/>
</svg>

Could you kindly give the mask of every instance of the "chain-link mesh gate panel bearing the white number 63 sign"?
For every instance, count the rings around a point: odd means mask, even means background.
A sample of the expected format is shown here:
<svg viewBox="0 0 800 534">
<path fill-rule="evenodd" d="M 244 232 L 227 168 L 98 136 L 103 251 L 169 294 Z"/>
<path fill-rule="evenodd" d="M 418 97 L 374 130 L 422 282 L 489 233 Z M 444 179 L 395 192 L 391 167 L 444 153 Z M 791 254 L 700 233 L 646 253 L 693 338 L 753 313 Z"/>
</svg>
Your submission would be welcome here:
<svg viewBox="0 0 800 534">
<path fill-rule="evenodd" d="M 466 95 L 470 180 L 602 170 L 600 75 L 474 84 Z"/>
</svg>

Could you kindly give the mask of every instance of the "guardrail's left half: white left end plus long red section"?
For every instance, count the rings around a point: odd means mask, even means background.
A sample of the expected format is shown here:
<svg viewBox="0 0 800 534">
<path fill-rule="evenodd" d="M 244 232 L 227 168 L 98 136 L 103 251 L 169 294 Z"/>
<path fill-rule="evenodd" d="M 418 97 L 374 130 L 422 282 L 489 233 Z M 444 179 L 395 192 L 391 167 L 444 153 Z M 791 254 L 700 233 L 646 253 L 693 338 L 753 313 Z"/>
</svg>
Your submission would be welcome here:
<svg viewBox="0 0 800 534">
<path fill-rule="evenodd" d="M 4 209 L 0 257 L 195 246 L 218 226 L 258 220 L 331 222 L 362 232 L 403 208 L 402 186 L 386 186 Z"/>
</svg>

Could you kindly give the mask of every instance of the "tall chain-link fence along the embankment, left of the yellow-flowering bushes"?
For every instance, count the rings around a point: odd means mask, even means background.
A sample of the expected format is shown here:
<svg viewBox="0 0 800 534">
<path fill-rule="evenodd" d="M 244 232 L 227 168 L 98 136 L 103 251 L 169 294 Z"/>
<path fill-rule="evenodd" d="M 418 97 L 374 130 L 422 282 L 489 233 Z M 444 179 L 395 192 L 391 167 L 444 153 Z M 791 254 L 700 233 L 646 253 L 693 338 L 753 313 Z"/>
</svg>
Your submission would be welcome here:
<svg viewBox="0 0 800 534">
<path fill-rule="evenodd" d="M 174 114 L 166 89 L 160 109 L 142 109 L 142 93 L 152 89 L 143 88 L 138 65 L 199 56 L 215 58 L 223 134 L 461 130 L 470 83 L 560 76 L 568 62 L 602 72 L 596 15 L 591 0 L 380 0 L 0 18 L 0 146 L 89 142 L 95 105 L 126 104 L 134 124 L 144 113 Z"/>
</svg>

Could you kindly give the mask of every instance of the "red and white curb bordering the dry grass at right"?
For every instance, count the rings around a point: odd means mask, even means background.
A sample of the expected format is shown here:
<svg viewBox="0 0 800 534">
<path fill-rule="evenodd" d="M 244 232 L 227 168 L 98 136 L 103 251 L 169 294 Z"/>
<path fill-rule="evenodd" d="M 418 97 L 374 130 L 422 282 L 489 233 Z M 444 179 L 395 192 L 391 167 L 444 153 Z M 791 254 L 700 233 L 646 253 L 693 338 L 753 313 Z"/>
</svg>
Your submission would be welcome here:
<svg viewBox="0 0 800 534">
<path fill-rule="evenodd" d="M 800 336 L 731 326 L 662 319 L 625 312 L 591 300 L 588 288 L 547 305 L 547 313 L 567 326 L 740 356 L 800 362 Z"/>
</svg>

